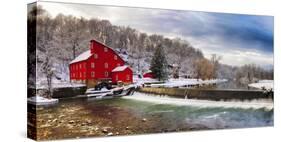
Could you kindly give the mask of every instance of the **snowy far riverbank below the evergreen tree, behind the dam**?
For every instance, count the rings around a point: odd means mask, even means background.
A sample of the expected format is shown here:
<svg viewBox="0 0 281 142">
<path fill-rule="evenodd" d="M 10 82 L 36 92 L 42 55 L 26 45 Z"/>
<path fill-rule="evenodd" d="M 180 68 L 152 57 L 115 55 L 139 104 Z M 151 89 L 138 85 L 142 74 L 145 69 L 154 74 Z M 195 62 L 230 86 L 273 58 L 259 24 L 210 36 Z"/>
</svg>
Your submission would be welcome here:
<svg viewBox="0 0 281 142">
<path fill-rule="evenodd" d="M 162 84 L 151 84 L 151 87 L 181 87 L 189 85 L 202 85 L 202 84 L 216 84 L 226 82 L 226 79 L 211 79 L 211 80 L 201 80 L 201 79 L 169 79 L 167 82 Z"/>
</svg>

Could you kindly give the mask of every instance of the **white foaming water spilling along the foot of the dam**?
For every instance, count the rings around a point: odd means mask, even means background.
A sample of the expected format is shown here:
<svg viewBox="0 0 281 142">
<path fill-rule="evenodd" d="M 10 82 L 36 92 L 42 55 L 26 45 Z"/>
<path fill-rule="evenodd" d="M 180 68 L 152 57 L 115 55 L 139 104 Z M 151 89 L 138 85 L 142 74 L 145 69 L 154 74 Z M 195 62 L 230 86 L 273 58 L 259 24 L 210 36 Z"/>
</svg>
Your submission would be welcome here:
<svg viewBox="0 0 281 142">
<path fill-rule="evenodd" d="M 243 109 L 265 108 L 268 110 L 272 110 L 274 107 L 272 100 L 264 100 L 264 99 L 251 100 L 251 101 L 210 101 L 210 100 L 172 98 L 169 96 L 149 95 L 139 92 L 135 92 L 134 95 L 132 96 L 124 96 L 122 98 L 151 102 L 156 104 L 172 104 L 172 105 L 195 106 L 195 107 L 223 107 L 223 108 L 243 108 Z"/>
</svg>

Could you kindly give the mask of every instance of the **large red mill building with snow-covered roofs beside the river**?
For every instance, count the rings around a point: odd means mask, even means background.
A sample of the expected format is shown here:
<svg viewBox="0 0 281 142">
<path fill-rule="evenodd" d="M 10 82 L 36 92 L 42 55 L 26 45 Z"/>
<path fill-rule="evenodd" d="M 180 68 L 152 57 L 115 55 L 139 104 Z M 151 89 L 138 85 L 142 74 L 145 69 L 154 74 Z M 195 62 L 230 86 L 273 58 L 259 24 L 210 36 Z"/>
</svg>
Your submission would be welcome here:
<svg viewBox="0 0 281 142">
<path fill-rule="evenodd" d="M 118 53 L 96 40 L 90 41 L 90 50 L 70 62 L 69 70 L 71 81 L 84 82 L 88 87 L 99 82 L 133 82 L 132 69 Z"/>
</svg>

